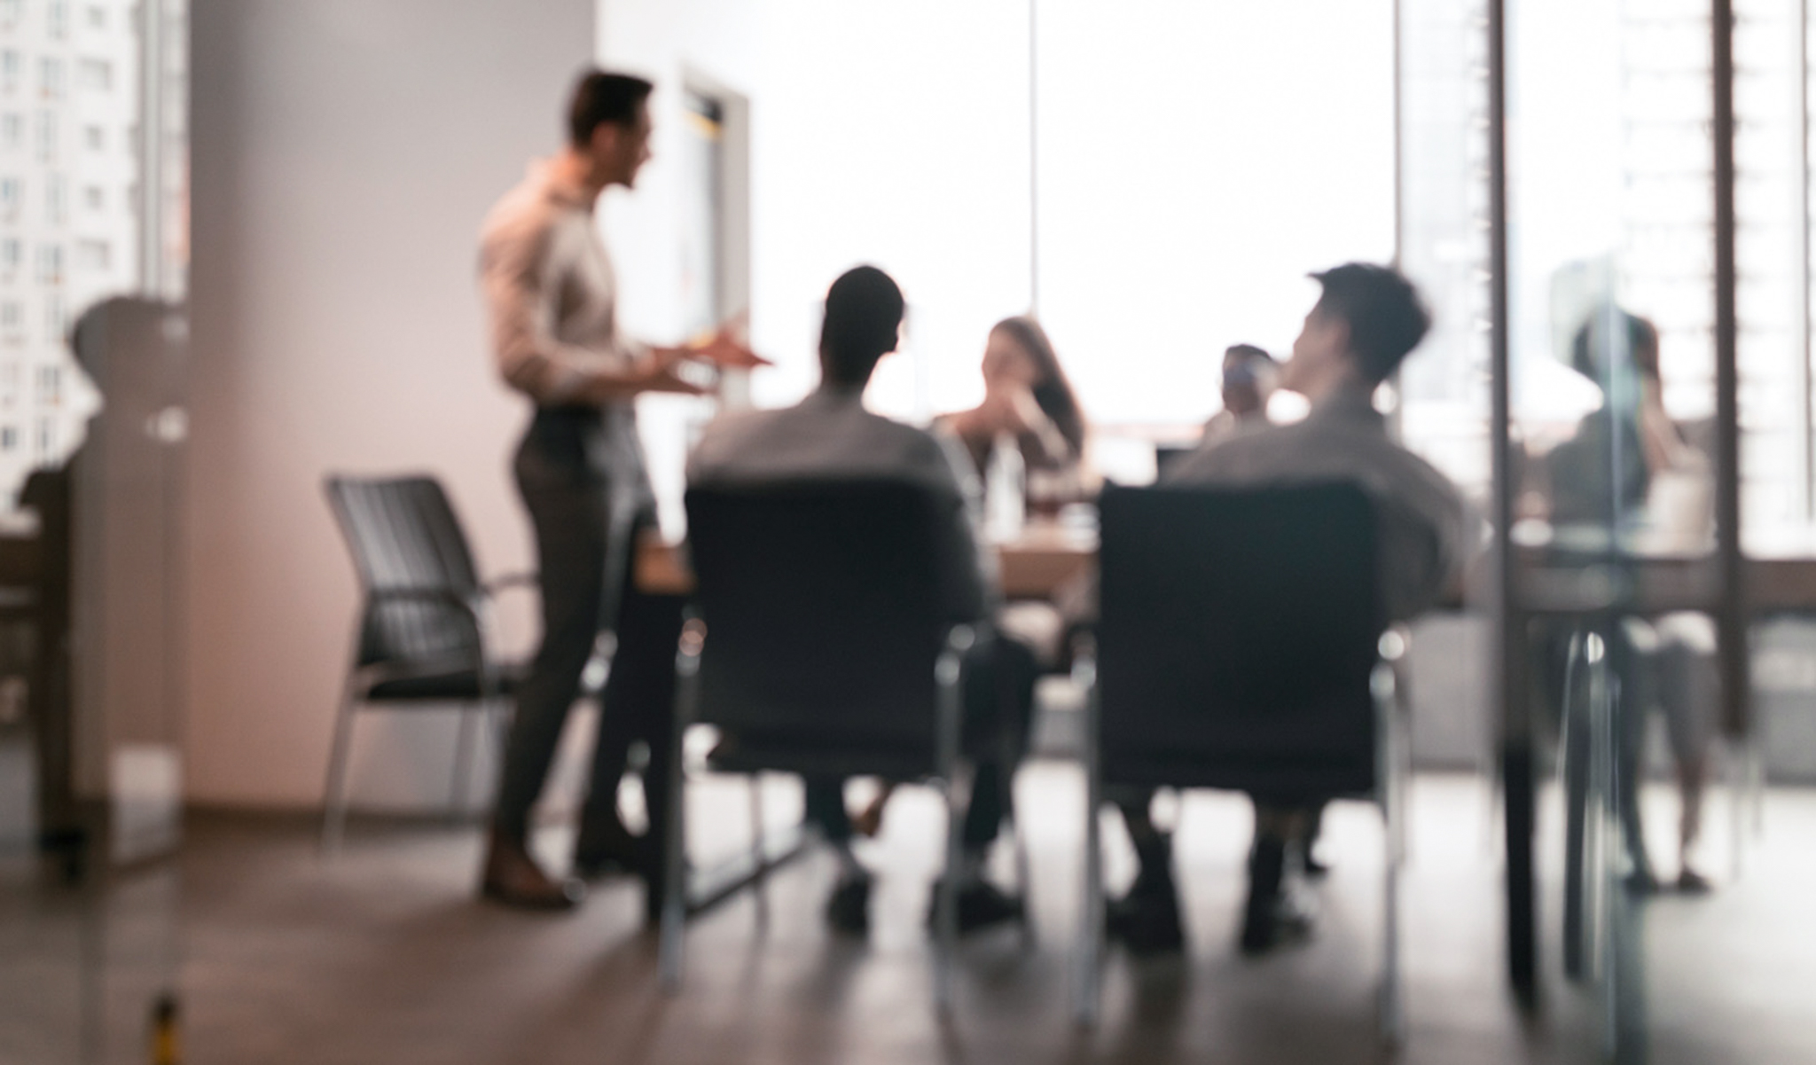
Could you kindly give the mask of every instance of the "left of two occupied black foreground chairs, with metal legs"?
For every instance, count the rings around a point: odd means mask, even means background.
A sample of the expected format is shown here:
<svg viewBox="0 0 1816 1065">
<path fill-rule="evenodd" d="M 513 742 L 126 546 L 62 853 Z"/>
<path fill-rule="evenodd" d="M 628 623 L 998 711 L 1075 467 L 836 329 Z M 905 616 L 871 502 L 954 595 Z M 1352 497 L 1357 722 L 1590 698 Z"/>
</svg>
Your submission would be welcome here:
<svg viewBox="0 0 1816 1065">
<path fill-rule="evenodd" d="M 661 974 L 681 980 L 681 732 L 716 725 L 726 772 L 932 778 L 948 807 L 935 1000 L 950 1001 L 953 876 L 970 781 L 961 662 L 977 638 L 950 602 L 932 493 L 901 482 L 696 487 L 697 618 L 681 640 Z M 757 841 L 761 854 L 761 841 Z"/>
</svg>

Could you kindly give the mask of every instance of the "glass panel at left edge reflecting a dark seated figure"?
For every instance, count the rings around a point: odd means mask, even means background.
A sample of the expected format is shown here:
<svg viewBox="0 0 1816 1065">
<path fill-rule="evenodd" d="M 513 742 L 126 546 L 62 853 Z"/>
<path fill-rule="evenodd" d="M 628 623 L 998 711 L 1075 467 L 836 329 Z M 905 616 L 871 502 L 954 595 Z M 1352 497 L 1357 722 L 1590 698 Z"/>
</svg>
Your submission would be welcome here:
<svg viewBox="0 0 1816 1065">
<path fill-rule="evenodd" d="M 174 1027 L 185 0 L 0 2 L 0 1060 Z"/>
</svg>

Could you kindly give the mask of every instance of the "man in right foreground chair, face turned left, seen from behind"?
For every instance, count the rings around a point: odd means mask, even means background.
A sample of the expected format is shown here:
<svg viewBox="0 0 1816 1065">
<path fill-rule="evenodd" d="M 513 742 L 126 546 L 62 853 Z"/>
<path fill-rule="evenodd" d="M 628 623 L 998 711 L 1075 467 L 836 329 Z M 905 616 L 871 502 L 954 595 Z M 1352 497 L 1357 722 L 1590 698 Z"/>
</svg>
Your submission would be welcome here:
<svg viewBox="0 0 1816 1065">
<path fill-rule="evenodd" d="M 1429 607 L 1460 574 L 1475 525 L 1455 485 L 1387 436 L 1373 394 L 1431 323 L 1413 285 L 1377 265 L 1347 264 L 1313 274 L 1324 285 L 1282 367 L 1280 387 L 1311 402 L 1304 422 L 1211 440 L 1164 478 L 1180 485 L 1278 485 L 1355 482 L 1375 500 L 1380 598 L 1389 622 Z M 1184 941 L 1173 887 L 1171 840 L 1148 816 L 1150 794 L 1117 796 L 1140 871 L 1110 907 L 1110 932 L 1137 951 Z M 1304 849 L 1326 796 L 1253 796 L 1255 845 L 1242 951 L 1269 949 L 1282 918 L 1288 845 Z"/>
</svg>

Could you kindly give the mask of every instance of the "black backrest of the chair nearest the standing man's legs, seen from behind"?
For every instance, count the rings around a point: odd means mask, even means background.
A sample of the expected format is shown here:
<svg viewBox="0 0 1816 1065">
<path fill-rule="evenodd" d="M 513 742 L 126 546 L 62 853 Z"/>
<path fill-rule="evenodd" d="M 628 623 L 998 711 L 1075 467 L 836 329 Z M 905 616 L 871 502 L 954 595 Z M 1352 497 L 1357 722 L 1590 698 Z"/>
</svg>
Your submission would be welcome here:
<svg viewBox="0 0 1816 1065">
<path fill-rule="evenodd" d="M 706 623 L 699 720 L 750 743 L 930 760 L 944 636 L 935 507 L 903 482 L 688 489 Z"/>
</svg>

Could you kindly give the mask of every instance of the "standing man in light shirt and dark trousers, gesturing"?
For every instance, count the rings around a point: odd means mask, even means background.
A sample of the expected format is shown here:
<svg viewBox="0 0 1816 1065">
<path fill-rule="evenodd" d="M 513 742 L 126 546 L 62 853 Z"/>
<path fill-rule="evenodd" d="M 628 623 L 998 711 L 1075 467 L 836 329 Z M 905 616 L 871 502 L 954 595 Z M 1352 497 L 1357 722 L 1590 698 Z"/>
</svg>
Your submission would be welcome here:
<svg viewBox="0 0 1816 1065">
<path fill-rule="evenodd" d="M 614 623 L 617 647 L 574 872 L 645 871 L 650 912 L 661 898 L 656 849 L 641 847 L 617 816 L 625 754 L 641 736 L 650 745 L 643 774 L 650 825 L 663 823 L 659 778 L 668 765 L 681 631 L 679 600 L 641 594 L 628 580 L 634 536 L 654 520 L 634 402 L 643 393 L 701 393 L 677 373 L 690 358 L 763 362 L 723 329 L 699 349 L 646 345 L 619 329 L 617 282 L 594 204 L 610 185 L 632 187 L 650 158 L 650 89 L 628 75 L 583 73 L 568 105 L 567 147 L 534 164 L 481 233 L 492 353 L 505 382 L 536 403 L 514 473 L 536 527 L 543 636 L 518 691 L 479 883 L 483 898 L 514 907 L 567 909 L 583 894 L 576 880 L 556 880 L 530 858 L 528 820 L 581 672 L 601 629 Z"/>
</svg>

